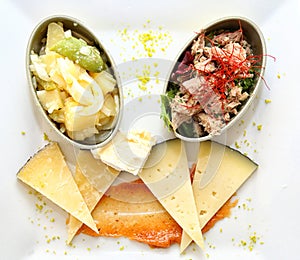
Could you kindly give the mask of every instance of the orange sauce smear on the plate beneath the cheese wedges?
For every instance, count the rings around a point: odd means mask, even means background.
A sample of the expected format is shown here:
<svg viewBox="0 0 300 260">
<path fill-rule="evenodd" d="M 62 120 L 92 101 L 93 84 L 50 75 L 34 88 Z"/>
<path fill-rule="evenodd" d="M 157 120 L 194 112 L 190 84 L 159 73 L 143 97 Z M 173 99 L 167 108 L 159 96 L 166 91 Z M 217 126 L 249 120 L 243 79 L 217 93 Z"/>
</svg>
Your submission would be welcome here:
<svg viewBox="0 0 300 260">
<path fill-rule="evenodd" d="M 230 216 L 238 200 L 229 199 L 202 229 L 210 230 L 216 222 Z M 161 206 L 142 181 L 112 186 L 92 212 L 99 234 L 86 225 L 79 233 L 90 236 L 127 237 L 150 247 L 167 248 L 180 244 L 182 228 Z"/>
</svg>

